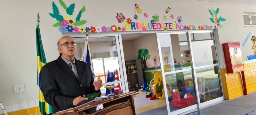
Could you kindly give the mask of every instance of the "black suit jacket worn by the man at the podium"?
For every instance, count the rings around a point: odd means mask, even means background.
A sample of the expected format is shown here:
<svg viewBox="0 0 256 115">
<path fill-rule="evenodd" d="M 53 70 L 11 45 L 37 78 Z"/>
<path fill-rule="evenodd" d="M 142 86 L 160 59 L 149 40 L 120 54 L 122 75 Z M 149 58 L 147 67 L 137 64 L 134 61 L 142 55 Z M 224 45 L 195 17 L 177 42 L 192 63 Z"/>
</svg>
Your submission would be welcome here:
<svg viewBox="0 0 256 115">
<path fill-rule="evenodd" d="M 94 89 L 90 65 L 76 58 L 75 61 L 79 80 L 61 56 L 42 67 L 41 90 L 44 100 L 53 107 L 53 112 L 71 108 L 73 100 L 78 96 L 86 97 L 88 94 L 100 92 Z M 94 111 L 96 107 L 84 112 Z"/>
</svg>

